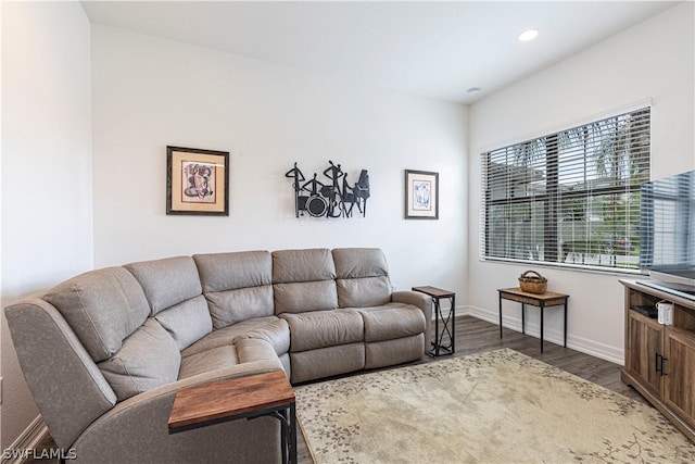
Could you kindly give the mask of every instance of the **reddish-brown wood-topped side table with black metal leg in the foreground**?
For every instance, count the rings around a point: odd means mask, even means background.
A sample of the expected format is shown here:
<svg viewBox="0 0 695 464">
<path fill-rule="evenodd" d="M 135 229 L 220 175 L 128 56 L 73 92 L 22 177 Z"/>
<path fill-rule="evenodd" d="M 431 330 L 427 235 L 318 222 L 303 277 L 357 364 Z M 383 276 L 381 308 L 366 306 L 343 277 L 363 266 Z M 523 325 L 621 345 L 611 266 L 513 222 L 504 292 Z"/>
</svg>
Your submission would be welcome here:
<svg viewBox="0 0 695 464">
<path fill-rule="evenodd" d="M 275 371 L 181 388 L 169 415 L 169 434 L 240 418 L 280 421 L 282 462 L 296 463 L 294 391 L 285 372 Z"/>
</svg>

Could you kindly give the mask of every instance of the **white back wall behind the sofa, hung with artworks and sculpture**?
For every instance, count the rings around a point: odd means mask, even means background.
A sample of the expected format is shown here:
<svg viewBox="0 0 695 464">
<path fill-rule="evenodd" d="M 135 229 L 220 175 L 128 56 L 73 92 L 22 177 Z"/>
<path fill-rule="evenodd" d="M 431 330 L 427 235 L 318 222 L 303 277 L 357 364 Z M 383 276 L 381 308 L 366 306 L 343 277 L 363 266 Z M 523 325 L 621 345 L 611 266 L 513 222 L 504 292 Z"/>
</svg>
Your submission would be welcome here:
<svg viewBox="0 0 695 464">
<path fill-rule="evenodd" d="M 92 26 L 94 262 L 381 247 L 399 288 L 464 293 L 467 109 Z M 230 215 L 165 214 L 166 146 L 229 151 Z M 294 162 L 369 172 L 366 217 L 294 217 Z M 404 170 L 440 173 L 440 220 L 405 221 Z M 462 300 L 463 301 L 463 300 Z"/>
</svg>

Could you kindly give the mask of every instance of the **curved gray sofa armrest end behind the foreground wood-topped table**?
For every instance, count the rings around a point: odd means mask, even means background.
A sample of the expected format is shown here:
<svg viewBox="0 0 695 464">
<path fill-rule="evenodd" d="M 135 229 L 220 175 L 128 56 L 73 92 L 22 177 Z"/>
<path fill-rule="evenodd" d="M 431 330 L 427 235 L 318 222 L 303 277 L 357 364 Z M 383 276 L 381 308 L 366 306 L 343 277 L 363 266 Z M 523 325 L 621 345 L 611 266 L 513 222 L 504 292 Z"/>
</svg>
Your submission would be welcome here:
<svg viewBox="0 0 695 464">
<path fill-rule="evenodd" d="M 279 371 L 276 362 L 254 361 L 131 397 L 94 421 L 77 439 L 72 447 L 76 462 L 278 462 L 280 429 L 271 417 L 168 432 L 168 418 L 179 389 L 273 371 Z"/>
</svg>

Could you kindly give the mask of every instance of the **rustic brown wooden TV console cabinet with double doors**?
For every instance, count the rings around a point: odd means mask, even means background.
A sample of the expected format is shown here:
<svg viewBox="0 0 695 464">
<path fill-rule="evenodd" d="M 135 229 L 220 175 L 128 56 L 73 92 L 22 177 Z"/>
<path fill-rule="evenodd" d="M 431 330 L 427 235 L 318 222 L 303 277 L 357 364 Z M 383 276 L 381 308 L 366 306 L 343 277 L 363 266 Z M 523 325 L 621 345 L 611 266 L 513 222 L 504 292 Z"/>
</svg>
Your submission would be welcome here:
<svg viewBox="0 0 695 464">
<path fill-rule="evenodd" d="M 695 301 L 634 280 L 624 286 L 626 366 L 621 380 L 695 441 Z M 673 303 L 673 325 L 635 309 Z"/>
</svg>

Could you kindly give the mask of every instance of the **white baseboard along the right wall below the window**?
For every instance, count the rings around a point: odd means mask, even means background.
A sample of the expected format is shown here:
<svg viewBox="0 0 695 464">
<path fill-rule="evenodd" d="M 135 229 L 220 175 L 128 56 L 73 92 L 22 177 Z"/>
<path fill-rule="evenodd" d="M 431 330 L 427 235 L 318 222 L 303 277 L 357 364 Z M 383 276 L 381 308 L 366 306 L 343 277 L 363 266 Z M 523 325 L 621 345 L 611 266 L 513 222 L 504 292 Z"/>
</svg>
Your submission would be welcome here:
<svg viewBox="0 0 695 464">
<path fill-rule="evenodd" d="M 470 315 L 492 324 L 500 324 L 498 311 L 490 311 L 490 310 L 485 310 L 477 306 L 466 306 L 466 309 L 462 309 L 460 312 L 459 312 L 459 309 L 456 308 L 456 314 Z M 504 328 L 521 331 L 521 317 L 503 315 L 503 323 L 504 323 Z M 532 337 L 540 338 L 541 327 L 538 324 L 530 323 L 527 319 L 526 334 Z M 563 344 L 561 330 L 556 330 L 553 328 L 548 328 L 546 326 L 544 329 L 543 338 L 546 341 L 552 341 L 553 343 L 557 343 L 557 344 Z M 611 363 L 616 363 L 621 366 L 624 365 L 624 349 L 622 348 L 619 349 L 605 343 L 599 343 L 595 340 L 578 337 L 571 334 L 567 335 L 567 348 L 581 351 L 582 353 L 591 354 L 592 356 L 599 358 L 602 360 L 610 361 Z"/>
</svg>

